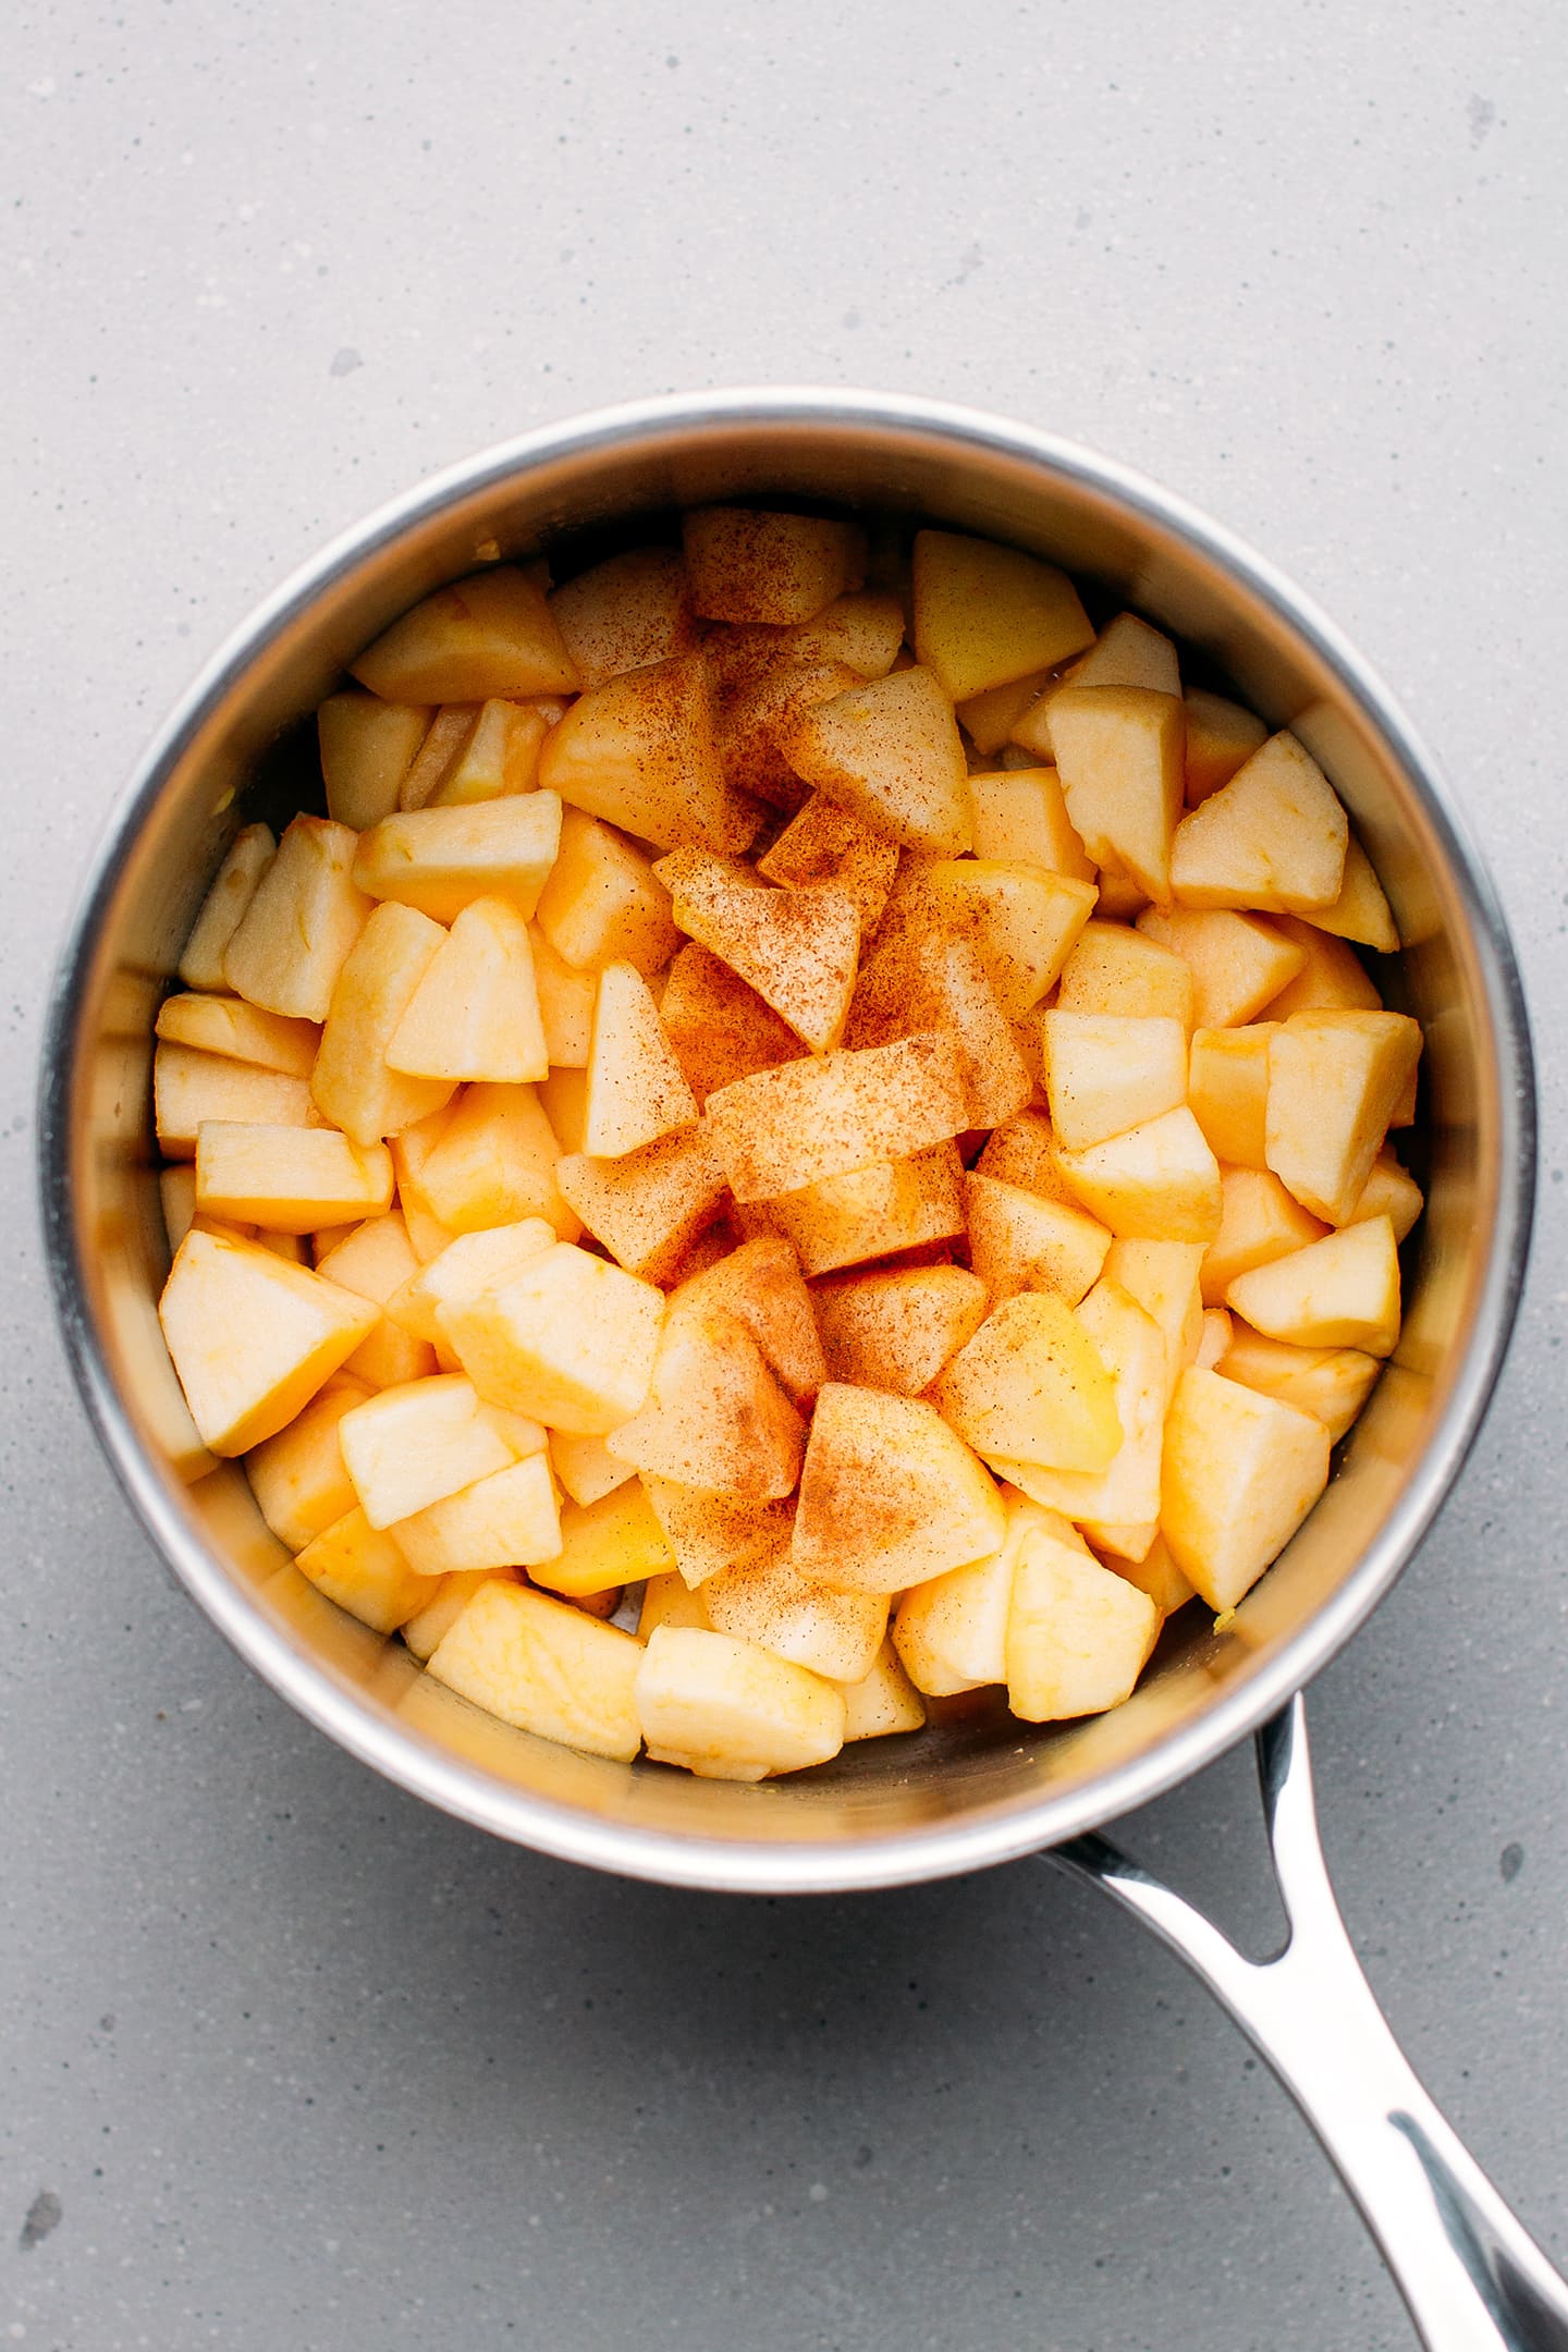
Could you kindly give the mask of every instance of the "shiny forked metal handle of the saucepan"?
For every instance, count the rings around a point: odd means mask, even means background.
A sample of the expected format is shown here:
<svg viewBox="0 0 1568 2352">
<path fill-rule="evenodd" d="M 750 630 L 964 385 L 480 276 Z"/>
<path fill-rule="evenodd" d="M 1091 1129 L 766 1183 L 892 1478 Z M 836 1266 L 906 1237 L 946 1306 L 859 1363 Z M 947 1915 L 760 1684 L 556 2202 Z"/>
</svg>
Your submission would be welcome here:
<svg viewBox="0 0 1568 2352">
<path fill-rule="evenodd" d="M 1258 1733 L 1258 1776 L 1288 1919 L 1276 1959 L 1246 1959 L 1105 1837 L 1048 1860 L 1114 1896 L 1229 2009 L 1328 2150 L 1427 2352 L 1568 2352 L 1568 2284 L 1427 2098 L 1361 1973 L 1324 1863 L 1300 1698 Z"/>
</svg>

